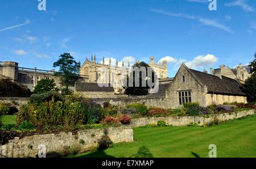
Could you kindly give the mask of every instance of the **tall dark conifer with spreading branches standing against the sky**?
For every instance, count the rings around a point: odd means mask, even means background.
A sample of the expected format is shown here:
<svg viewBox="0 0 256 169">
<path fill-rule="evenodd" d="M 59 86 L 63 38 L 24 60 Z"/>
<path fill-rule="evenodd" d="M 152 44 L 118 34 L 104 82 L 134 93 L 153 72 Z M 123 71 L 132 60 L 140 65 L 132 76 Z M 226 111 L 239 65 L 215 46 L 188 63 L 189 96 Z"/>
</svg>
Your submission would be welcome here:
<svg viewBox="0 0 256 169">
<path fill-rule="evenodd" d="M 65 86 L 65 92 L 68 91 L 68 86 L 73 86 L 79 79 L 80 62 L 76 62 L 70 53 L 63 53 L 53 67 L 60 67 L 59 72 L 55 75 L 61 77 L 61 83 Z"/>
</svg>

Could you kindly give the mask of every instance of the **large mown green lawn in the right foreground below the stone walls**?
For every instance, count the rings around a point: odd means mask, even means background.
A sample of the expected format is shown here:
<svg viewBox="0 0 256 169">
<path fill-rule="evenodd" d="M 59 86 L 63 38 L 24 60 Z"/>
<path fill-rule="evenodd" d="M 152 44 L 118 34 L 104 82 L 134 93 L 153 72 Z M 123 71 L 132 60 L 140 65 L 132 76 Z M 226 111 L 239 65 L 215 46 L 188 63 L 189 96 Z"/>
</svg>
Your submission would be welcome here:
<svg viewBox="0 0 256 169">
<path fill-rule="evenodd" d="M 201 127 L 135 128 L 133 143 L 115 145 L 73 157 L 256 157 L 256 116 Z"/>
</svg>

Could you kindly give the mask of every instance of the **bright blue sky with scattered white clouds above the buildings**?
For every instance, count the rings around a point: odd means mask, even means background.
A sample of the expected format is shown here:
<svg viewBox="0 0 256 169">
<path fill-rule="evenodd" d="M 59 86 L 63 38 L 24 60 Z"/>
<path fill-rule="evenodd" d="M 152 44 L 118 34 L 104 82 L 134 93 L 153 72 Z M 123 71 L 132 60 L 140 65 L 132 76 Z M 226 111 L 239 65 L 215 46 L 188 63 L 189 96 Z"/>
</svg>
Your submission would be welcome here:
<svg viewBox="0 0 256 169">
<path fill-rule="evenodd" d="M 182 62 L 234 67 L 256 52 L 254 0 L 217 0 L 217 11 L 205 0 L 46 0 L 46 11 L 38 3 L 0 1 L 0 61 L 51 70 L 64 52 L 81 63 L 91 54 L 126 64 L 155 56 L 173 77 Z"/>
</svg>

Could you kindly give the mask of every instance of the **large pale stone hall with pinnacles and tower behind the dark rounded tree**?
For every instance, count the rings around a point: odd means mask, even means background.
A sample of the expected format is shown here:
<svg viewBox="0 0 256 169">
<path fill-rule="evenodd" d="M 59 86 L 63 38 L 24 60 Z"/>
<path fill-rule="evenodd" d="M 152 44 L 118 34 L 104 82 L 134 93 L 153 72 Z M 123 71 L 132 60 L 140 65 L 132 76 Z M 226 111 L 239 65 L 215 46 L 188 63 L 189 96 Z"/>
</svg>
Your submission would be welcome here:
<svg viewBox="0 0 256 169">
<path fill-rule="evenodd" d="M 115 64 L 115 66 L 112 66 Z M 155 64 L 154 57 L 150 57 L 150 67 L 155 71 L 158 78 L 164 79 L 167 78 L 168 69 L 167 61 L 163 61 L 162 64 Z M 102 64 L 96 63 L 96 56 L 91 57 L 91 60 L 85 60 L 80 68 L 80 75 L 86 75 L 89 77 L 89 83 L 111 83 L 113 84 L 115 93 L 122 94 L 124 92 L 123 83 L 127 75 L 130 75 L 131 69 L 130 64 L 128 67 L 125 67 L 125 64 L 122 63 L 122 66 L 118 66 L 118 61 L 112 63 L 112 60 L 109 60 L 109 65 L 105 64 L 105 58 L 103 57 Z"/>
</svg>

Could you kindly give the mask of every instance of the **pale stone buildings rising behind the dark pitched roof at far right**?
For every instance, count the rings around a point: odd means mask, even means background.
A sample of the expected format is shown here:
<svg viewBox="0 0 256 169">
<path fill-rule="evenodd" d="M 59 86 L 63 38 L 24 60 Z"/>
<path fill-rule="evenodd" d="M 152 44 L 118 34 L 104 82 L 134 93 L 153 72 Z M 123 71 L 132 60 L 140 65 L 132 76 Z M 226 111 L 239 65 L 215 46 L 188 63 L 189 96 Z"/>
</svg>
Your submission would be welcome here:
<svg viewBox="0 0 256 169">
<path fill-rule="evenodd" d="M 237 79 L 241 83 L 244 83 L 251 75 L 251 67 L 250 65 L 242 66 L 242 64 L 239 64 L 237 67 L 230 69 L 229 66 L 221 65 L 218 69 L 213 70 L 210 68 L 210 74 Z"/>
</svg>

